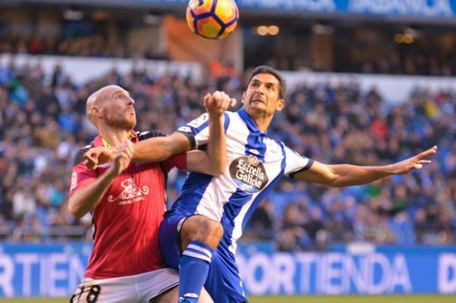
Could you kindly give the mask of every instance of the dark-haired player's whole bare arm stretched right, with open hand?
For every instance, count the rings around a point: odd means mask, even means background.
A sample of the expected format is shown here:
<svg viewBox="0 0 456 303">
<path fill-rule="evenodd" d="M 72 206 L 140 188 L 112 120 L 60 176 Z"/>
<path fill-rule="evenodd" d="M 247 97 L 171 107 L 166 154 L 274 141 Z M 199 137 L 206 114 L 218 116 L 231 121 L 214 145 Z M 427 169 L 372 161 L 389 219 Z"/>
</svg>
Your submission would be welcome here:
<svg viewBox="0 0 456 303">
<path fill-rule="evenodd" d="M 414 157 L 386 166 L 330 165 L 314 162 L 308 170 L 296 173 L 294 178 L 332 187 L 368 184 L 383 177 L 403 175 L 412 169 L 419 169 L 423 164 L 429 164 L 430 160 L 427 158 L 435 153 L 437 153 L 437 146 Z"/>
</svg>

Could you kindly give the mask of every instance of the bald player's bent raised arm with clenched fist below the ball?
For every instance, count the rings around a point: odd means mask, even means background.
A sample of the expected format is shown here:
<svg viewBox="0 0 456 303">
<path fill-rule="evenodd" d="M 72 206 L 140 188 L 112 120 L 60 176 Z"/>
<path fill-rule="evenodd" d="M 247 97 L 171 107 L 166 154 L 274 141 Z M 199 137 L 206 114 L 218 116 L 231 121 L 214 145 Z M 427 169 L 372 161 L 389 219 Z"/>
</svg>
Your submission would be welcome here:
<svg viewBox="0 0 456 303">
<path fill-rule="evenodd" d="M 187 153 L 187 169 L 221 175 L 227 167 L 227 144 L 225 139 L 224 113 L 229 106 L 236 104 L 225 92 L 214 92 L 205 96 L 205 108 L 209 113 L 209 141 L 207 150 L 194 150 Z"/>
</svg>

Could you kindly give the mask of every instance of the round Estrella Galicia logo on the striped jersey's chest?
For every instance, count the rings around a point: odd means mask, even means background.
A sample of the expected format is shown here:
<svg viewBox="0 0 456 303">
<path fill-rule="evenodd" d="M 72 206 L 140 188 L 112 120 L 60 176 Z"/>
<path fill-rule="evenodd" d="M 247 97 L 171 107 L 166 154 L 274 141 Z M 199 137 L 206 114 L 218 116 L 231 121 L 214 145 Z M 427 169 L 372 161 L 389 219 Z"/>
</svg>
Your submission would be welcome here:
<svg viewBox="0 0 456 303">
<path fill-rule="evenodd" d="M 229 166 L 229 174 L 245 193 L 257 193 L 265 188 L 269 181 L 265 166 L 255 155 L 234 159 Z"/>
</svg>

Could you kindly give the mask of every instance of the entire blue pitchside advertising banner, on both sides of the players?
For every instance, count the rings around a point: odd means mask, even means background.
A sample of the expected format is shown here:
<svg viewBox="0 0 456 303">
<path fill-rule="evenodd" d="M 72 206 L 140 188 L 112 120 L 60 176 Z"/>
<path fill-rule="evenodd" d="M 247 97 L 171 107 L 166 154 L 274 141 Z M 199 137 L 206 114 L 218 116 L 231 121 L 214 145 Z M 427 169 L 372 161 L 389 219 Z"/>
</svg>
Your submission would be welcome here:
<svg viewBox="0 0 456 303">
<path fill-rule="evenodd" d="M 0 244 L 0 297 L 70 297 L 91 244 Z M 240 245 L 238 266 L 251 295 L 456 293 L 456 247 L 332 248 L 274 253 Z"/>
</svg>

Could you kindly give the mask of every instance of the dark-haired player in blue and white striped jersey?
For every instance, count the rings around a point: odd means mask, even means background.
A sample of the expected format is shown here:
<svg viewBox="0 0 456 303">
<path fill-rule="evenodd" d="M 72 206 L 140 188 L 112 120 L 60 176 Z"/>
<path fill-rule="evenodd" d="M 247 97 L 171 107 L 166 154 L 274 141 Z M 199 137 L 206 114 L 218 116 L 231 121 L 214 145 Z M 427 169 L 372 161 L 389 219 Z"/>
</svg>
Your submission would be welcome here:
<svg viewBox="0 0 456 303">
<path fill-rule="evenodd" d="M 235 261 L 236 241 L 281 177 L 332 187 L 368 184 L 419 169 L 437 152 L 434 146 L 388 166 L 313 161 L 267 137 L 274 114 L 285 106 L 284 97 L 285 81 L 280 73 L 258 66 L 243 93 L 243 108 L 225 113 L 225 172 L 218 177 L 190 173 L 180 197 L 165 216 L 160 227 L 160 251 L 168 266 L 179 268 L 179 302 L 196 302 L 203 285 L 214 302 L 247 302 Z M 207 123 L 196 119 L 180 130 L 193 136 L 200 146 L 207 141 L 207 128 Z M 137 147 L 135 152 L 140 151 Z"/>
</svg>

